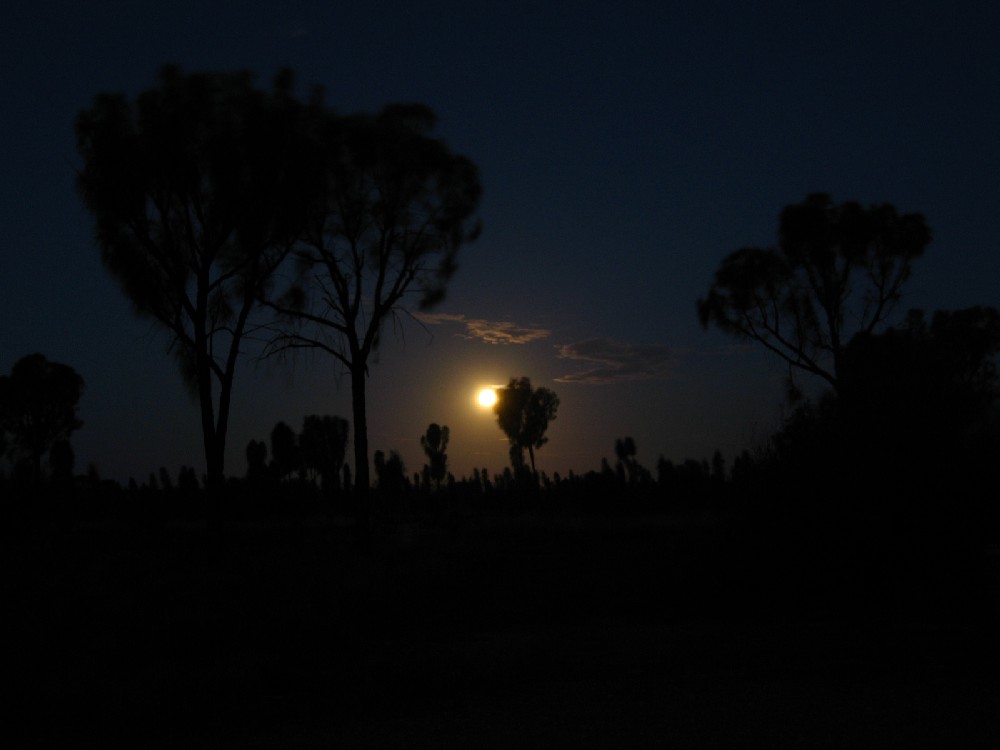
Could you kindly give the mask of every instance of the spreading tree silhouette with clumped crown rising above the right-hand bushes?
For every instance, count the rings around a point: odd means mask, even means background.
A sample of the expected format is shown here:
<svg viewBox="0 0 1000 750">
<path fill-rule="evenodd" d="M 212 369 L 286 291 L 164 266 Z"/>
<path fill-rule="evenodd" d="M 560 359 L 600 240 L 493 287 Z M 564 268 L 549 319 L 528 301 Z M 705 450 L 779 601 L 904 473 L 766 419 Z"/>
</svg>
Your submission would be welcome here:
<svg viewBox="0 0 1000 750">
<path fill-rule="evenodd" d="M 781 212 L 776 247 L 722 261 L 698 316 L 836 390 L 848 342 L 885 323 L 930 239 L 920 214 L 813 194 Z"/>
</svg>

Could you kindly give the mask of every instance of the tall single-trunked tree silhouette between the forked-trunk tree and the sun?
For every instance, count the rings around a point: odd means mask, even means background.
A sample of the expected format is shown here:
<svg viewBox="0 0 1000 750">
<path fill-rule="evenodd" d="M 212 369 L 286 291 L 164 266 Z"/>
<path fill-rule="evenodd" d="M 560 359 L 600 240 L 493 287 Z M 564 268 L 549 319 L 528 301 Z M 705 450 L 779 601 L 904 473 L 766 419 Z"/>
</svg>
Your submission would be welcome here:
<svg viewBox="0 0 1000 750">
<path fill-rule="evenodd" d="M 478 170 L 428 135 L 422 105 L 314 120 L 325 185 L 299 245 L 300 274 L 274 304 L 284 329 L 272 351 L 318 348 L 351 377 L 359 530 L 368 534 L 370 475 L 365 383 L 385 323 L 444 296 L 460 246 L 478 235 Z"/>
</svg>

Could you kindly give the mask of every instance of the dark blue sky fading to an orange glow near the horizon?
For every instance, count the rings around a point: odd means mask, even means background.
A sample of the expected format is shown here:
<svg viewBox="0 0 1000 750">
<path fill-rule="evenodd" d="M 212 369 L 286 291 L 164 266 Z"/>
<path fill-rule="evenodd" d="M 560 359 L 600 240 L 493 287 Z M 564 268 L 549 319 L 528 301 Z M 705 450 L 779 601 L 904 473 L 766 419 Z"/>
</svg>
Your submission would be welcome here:
<svg viewBox="0 0 1000 750">
<path fill-rule="evenodd" d="M 599 468 L 626 435 L 648 467 L 765 438 L 786 370 L 703 331 L 695 302 L 810 192 L 925 214 L 934 241 L 900 315 L 1000 305 L 994 2 L 40 0 L 3 15 L 0 371 L 40 351 L 83 376 L 78 470 L 204 471 L 197 404 L 101 266 L 74 188 L 77 112 L 168 62 L 263 86 L 289 66 L 345 113 L 423 102 L 479 165 L 482 236 L 425 329 L 385 336 L 369 380 L 371 449 L 410 473 L 430 422 L 450 426 L 457 476 L 501 471 L 474 397 L 521 375 L 562 401 L 536 455 L 549 473 Z M 307 414 L 350 418 L 331 358 L 244 360 L 227 473 Z"/>
</svg>

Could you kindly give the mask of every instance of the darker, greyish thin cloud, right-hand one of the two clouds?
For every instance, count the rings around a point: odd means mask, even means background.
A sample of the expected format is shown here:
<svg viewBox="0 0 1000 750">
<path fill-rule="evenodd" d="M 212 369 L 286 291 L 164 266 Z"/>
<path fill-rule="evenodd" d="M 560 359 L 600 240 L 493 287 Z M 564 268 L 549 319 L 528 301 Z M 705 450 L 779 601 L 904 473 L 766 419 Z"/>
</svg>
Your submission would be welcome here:
<svg viewBox="0 0 1000 750">
<path fill-rule="evenodd" d="M 560 359 L 581 362 L 587 369 L 556 378 L 558 383 L 608 385 L 628 380 L 650 380 L 671 374 L 676 352 L 660 344 L 628 344 L 595 338 L 557 347 Z"/>
</svg>

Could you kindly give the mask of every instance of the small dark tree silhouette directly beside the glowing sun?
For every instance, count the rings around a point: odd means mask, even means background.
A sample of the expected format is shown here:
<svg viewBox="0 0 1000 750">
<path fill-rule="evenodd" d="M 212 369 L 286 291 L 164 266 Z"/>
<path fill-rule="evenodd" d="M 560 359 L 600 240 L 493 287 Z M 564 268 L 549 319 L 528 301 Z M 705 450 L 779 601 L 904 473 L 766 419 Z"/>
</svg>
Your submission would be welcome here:
<svg viewBox="0 0 1000 750">
<path fill-rule="evenodd" d="M 505 388 L 497 389 L 497 402 L 493 412 L 497 424 L 510 442 L 510 460 L 515 472 L 524 469 L 524 451 L 531 459 L 531 473 L 535 470 L 535 449 L 548 442 L 545 431 L 556 418 L 559 397 L 548 388 L 533 389 L 526 377 L 511 378 Z"/>
</svg>

